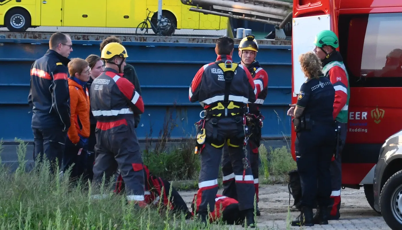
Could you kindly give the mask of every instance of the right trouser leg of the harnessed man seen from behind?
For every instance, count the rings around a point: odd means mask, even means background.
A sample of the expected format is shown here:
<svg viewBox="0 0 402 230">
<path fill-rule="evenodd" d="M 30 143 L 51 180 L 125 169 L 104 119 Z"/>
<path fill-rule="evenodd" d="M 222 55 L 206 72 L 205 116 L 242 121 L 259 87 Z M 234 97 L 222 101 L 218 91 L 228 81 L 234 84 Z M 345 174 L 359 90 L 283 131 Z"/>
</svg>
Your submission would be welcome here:
<svg viewBox="0 0 402 230">
<path fill-rule="evenodd" d="M 229 146 L 229 155 L 232 161 L 232 168 L 235 175 L 236 191 L 239 199 L 239 210 L 254 209 L 254 178 L 252 176 L 251 168 L 246 169 L 246 173 L 243 179 L 243 163 L 244 157 L 243 148 Z M 248 160 L 250 159 L 250 153 L 248 154 Z"/>
</svg>

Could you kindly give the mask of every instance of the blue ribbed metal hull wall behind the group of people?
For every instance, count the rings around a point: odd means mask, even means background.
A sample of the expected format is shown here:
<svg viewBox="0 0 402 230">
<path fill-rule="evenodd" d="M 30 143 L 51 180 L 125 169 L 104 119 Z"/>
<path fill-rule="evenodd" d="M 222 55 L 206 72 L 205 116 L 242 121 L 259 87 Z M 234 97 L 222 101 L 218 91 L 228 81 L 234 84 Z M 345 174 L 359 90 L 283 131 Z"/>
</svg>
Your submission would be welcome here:
<svg viewBox="0 0 402 230">
<path fill-rule="evenodd" d="M 73 40 L 74 51 L 69 58 L 85 59 L 100 55 L 100 41 Z M 164 118 L 172 114 L 176 123 L 172 139 L 195 134 L 202 107 L 190 103 L 188 89 L 201 66 L 216 59 L 215 44 L 123 42 L 135 67 L 142 88 L 145 112 L 137 128 L 139 139 L 157 138 L 164 127 Z M 33 140 L 31 117 L 27 104 L 29 70 L 35 59 L 48 49 L 48 40 L 0 39 L 0 139 L 14 137 Z M 268 96 L 262 107 L 265 116 L 263 138 L 279 139 L 290 135 L 290 118 L 286 111 L 291 102 L 291 46 L 261 45 L 258 61 L 269 76 Z M 234 61 L 240 61 L 235 45 Z M 177 119 L 176 119 L 177 117 Z"/>
</svg>

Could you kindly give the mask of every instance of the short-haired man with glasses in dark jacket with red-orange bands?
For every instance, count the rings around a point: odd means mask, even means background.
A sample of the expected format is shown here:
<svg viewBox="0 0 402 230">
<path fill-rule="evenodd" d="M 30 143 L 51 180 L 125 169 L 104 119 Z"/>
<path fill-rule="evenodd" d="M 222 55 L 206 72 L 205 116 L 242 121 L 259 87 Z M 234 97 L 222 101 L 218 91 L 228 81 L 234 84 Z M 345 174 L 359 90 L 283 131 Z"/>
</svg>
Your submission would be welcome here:
<svg viewBox="0 0 402 230">
<path fill-rule="evenodd" d="M 72 41 L 64 33 L 53 33 L 49 50 L 31 67 L 31 88 L 28 104 L 32 109 L 31 127 L 34 137 L 34 160 L 43 155 L 52 164 L 56 158 L 61 166 L 67 131 L 70 128 L 70 94 L 68 91 L 68 56 Z"/>
</svg>

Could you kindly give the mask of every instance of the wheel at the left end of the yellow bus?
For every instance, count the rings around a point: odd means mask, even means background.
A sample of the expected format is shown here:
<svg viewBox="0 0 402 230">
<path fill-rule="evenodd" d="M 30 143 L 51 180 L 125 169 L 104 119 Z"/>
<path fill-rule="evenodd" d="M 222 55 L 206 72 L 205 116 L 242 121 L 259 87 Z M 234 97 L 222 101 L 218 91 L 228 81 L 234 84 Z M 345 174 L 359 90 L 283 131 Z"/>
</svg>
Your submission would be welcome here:
<svg viewBox="0 0 402 230">
<path fill-rule="evenodd" d="M 25 32 L 31 27 L 31 15 L 23 8 L 12 8 L 4 17 L 4 25 L 11 32 Z"/>
</svg>

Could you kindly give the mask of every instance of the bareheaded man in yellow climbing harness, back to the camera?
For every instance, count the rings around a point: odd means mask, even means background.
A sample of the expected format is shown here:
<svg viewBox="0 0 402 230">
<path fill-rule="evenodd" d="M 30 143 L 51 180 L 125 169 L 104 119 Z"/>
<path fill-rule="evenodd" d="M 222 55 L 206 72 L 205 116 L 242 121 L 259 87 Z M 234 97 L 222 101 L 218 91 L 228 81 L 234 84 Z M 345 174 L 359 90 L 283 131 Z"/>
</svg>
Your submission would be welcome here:
<svg viewBox="0 0 402 230">
<path fill-rule="evenodd" d="M 201 154 L 197 213 L 206 223 L 207 205 L 214 210 L 218 191 L 218 170 L 222 148 L 227 144 L 235 174 L 239 209 L 246 215 L 247 225 L 254 227 L 254 178 L 246 149 L 249 135 L 246 126 L 246 104 L 255 102 L 254 82 L 250 72 L 232 62 L 234 42 L 230 37 L 217 39 L 217 60 L 205 64 L 195 75 L 189 89 L 190 102 L 199 101 L 204 110 L 197 130 L 196 153 Z M 200 114 L 200 116 L 201 116 Z"/>
</svg>

